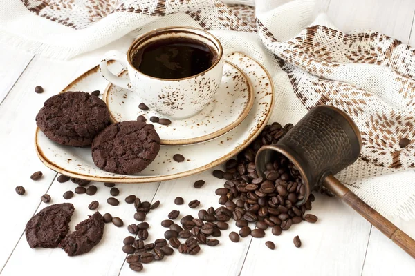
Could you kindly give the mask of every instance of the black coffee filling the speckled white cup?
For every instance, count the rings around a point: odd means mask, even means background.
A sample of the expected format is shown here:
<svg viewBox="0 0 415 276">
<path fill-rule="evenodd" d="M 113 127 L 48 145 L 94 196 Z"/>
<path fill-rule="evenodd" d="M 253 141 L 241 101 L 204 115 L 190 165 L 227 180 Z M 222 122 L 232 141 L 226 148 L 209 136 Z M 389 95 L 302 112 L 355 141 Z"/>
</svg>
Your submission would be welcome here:
<svg viewBox="0 0 415 276">
<path fill-rule="evenodd" d="M 205 43 L 185 37 L 152 41 L 133 54 L 140 72 L 159 79 L 183 79 L 208 70 L 217 59 Z"/>
</svg>

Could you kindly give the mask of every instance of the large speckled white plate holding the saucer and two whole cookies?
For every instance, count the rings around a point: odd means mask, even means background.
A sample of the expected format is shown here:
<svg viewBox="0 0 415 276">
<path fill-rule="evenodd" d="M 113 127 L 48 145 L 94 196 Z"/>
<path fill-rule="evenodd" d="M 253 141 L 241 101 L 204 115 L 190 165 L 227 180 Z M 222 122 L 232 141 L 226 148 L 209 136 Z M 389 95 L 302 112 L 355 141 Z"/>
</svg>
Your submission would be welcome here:
<svg viewBox="0 0 415 276">
<path fill-rule="evenodd" d="M 92 161 L 91 148 L 62 146 L 50 141 L 39 129 L 36 130 L 37 155 L 49 168 L 64 175 L 102 182 L 148 183 L 193 175 L 208 170 L 237 155 L 266 126 L 273 108 L 273 82 L 268 72 L 256 61 L 241 53 L 228 55 L 228 61 L 241 68 L 249 77 L 254 92 L 254 104 L 239 126 L 225 135 L 189 146 L 161 146 L 156 159 L 145 170 L 136 175 L 117 175 L 104 172 Z M 120 72 L 117 64 L 110 70 Z M 101 77 L 98 66 L 85 72 L 70 83 L 63 92 L 70 90 L 103 91 L 108 82 Z M 185 161 L 177 163 L 173 155 L 180 153 Z"/>
</svg>

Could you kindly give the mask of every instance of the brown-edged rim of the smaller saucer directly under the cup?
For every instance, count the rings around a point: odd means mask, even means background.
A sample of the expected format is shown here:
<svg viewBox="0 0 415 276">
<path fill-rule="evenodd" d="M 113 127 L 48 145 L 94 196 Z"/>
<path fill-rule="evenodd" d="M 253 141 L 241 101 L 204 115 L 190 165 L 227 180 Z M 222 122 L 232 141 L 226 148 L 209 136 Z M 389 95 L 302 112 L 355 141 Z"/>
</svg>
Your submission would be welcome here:
<svg viewBox="0 0 415 276">
<path fill-rule="evenodd" d="M 252 109 L 252 106 L 254 105 L 254 101 L 255 101 L 254 88 L 252 87 L 250 78 L 248 77 L 248 75 L 246 75 L 245 72 L 241 70 L 241 68 L 239 68 L 238 66 L 236 66 L 234 63 L 230 61 L 225 60 L 224 62 L 229 63 L 230 66 L 235 68 L 244 77 L 244 79 L 246 80 L 246 83 L 248 84 L 248 103 L 243 108 L 238 119 L 233 121 L 231 124 L 228 124 L 224 128 L 221 128 L 220 130 L 216 130 L 215 132 L 211 132 L 208 135 L 203 135 L 203 136 L 189 138 L 189 139 L 160 139 L 160 144 L 162 146 L 188 146 L 188 145 L 203 143 L 205 141 L 209 141 L 217 137 L 220 137 L 222 135 L 225 135 L 227 132 L 230 132 L 230 130 L 233 130 L 234 128 L 239 126 L 243 122 L 243 120 L 246 119 L 250 110 Z M 126 70 L 127 69 L 122 70 L 121 72 L 118 73 L 117 76 L 121 75 Z M 111 86 L 115 86 L 115 84 L 111 82 L 108 84 L 108 86 L 105 88 L 104 92 L 102 93 L 102 101 L 104 101 L 104 103 L 107 104 L 108 111 L 109 111 L 109 121 L 111 121 L 111 124 L 116 124 L 119 121 L 117 121 L 116 118 L 111 113 L 111 110 L 109 109 L 109 104 L 108 104 L 108 97 L 109 97 L 108 91 L 109 91 L 109 88 L 111 88 Z"/>
</svg>

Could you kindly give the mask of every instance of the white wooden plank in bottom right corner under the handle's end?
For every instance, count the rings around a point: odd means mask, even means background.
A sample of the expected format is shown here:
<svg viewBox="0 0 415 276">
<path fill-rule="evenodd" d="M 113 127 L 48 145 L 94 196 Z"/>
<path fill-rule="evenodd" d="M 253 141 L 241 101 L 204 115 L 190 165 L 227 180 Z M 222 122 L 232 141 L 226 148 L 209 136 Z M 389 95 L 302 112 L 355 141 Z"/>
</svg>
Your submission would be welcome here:
<svg viewBox="0 0 415 276">
<path fill-rule="evenodd" d="M 415 238 L 415 221 L 391 221 L 407 235 Z M 408 275 L 415 271 L 415 262 L 376 228 L 372 229 L 362 276 Z M 409 273 L 413 274 L 413 273 Z"/>
</svg>

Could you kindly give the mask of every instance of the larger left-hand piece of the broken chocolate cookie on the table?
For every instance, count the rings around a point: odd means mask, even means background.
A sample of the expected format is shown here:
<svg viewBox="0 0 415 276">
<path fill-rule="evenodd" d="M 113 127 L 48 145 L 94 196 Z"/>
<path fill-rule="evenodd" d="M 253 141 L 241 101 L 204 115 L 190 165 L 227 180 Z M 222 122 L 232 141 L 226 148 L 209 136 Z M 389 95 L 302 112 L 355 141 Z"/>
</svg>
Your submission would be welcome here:
<svg viewBox="0 0 415 276">
<path fill-rule="evenodd" d="M 31 248 L 55 248 L 66 236 L 73 214 L 70 203 L 53 204 L 34 215 L 26 224 L 26 239 Z"/>
</svg>

